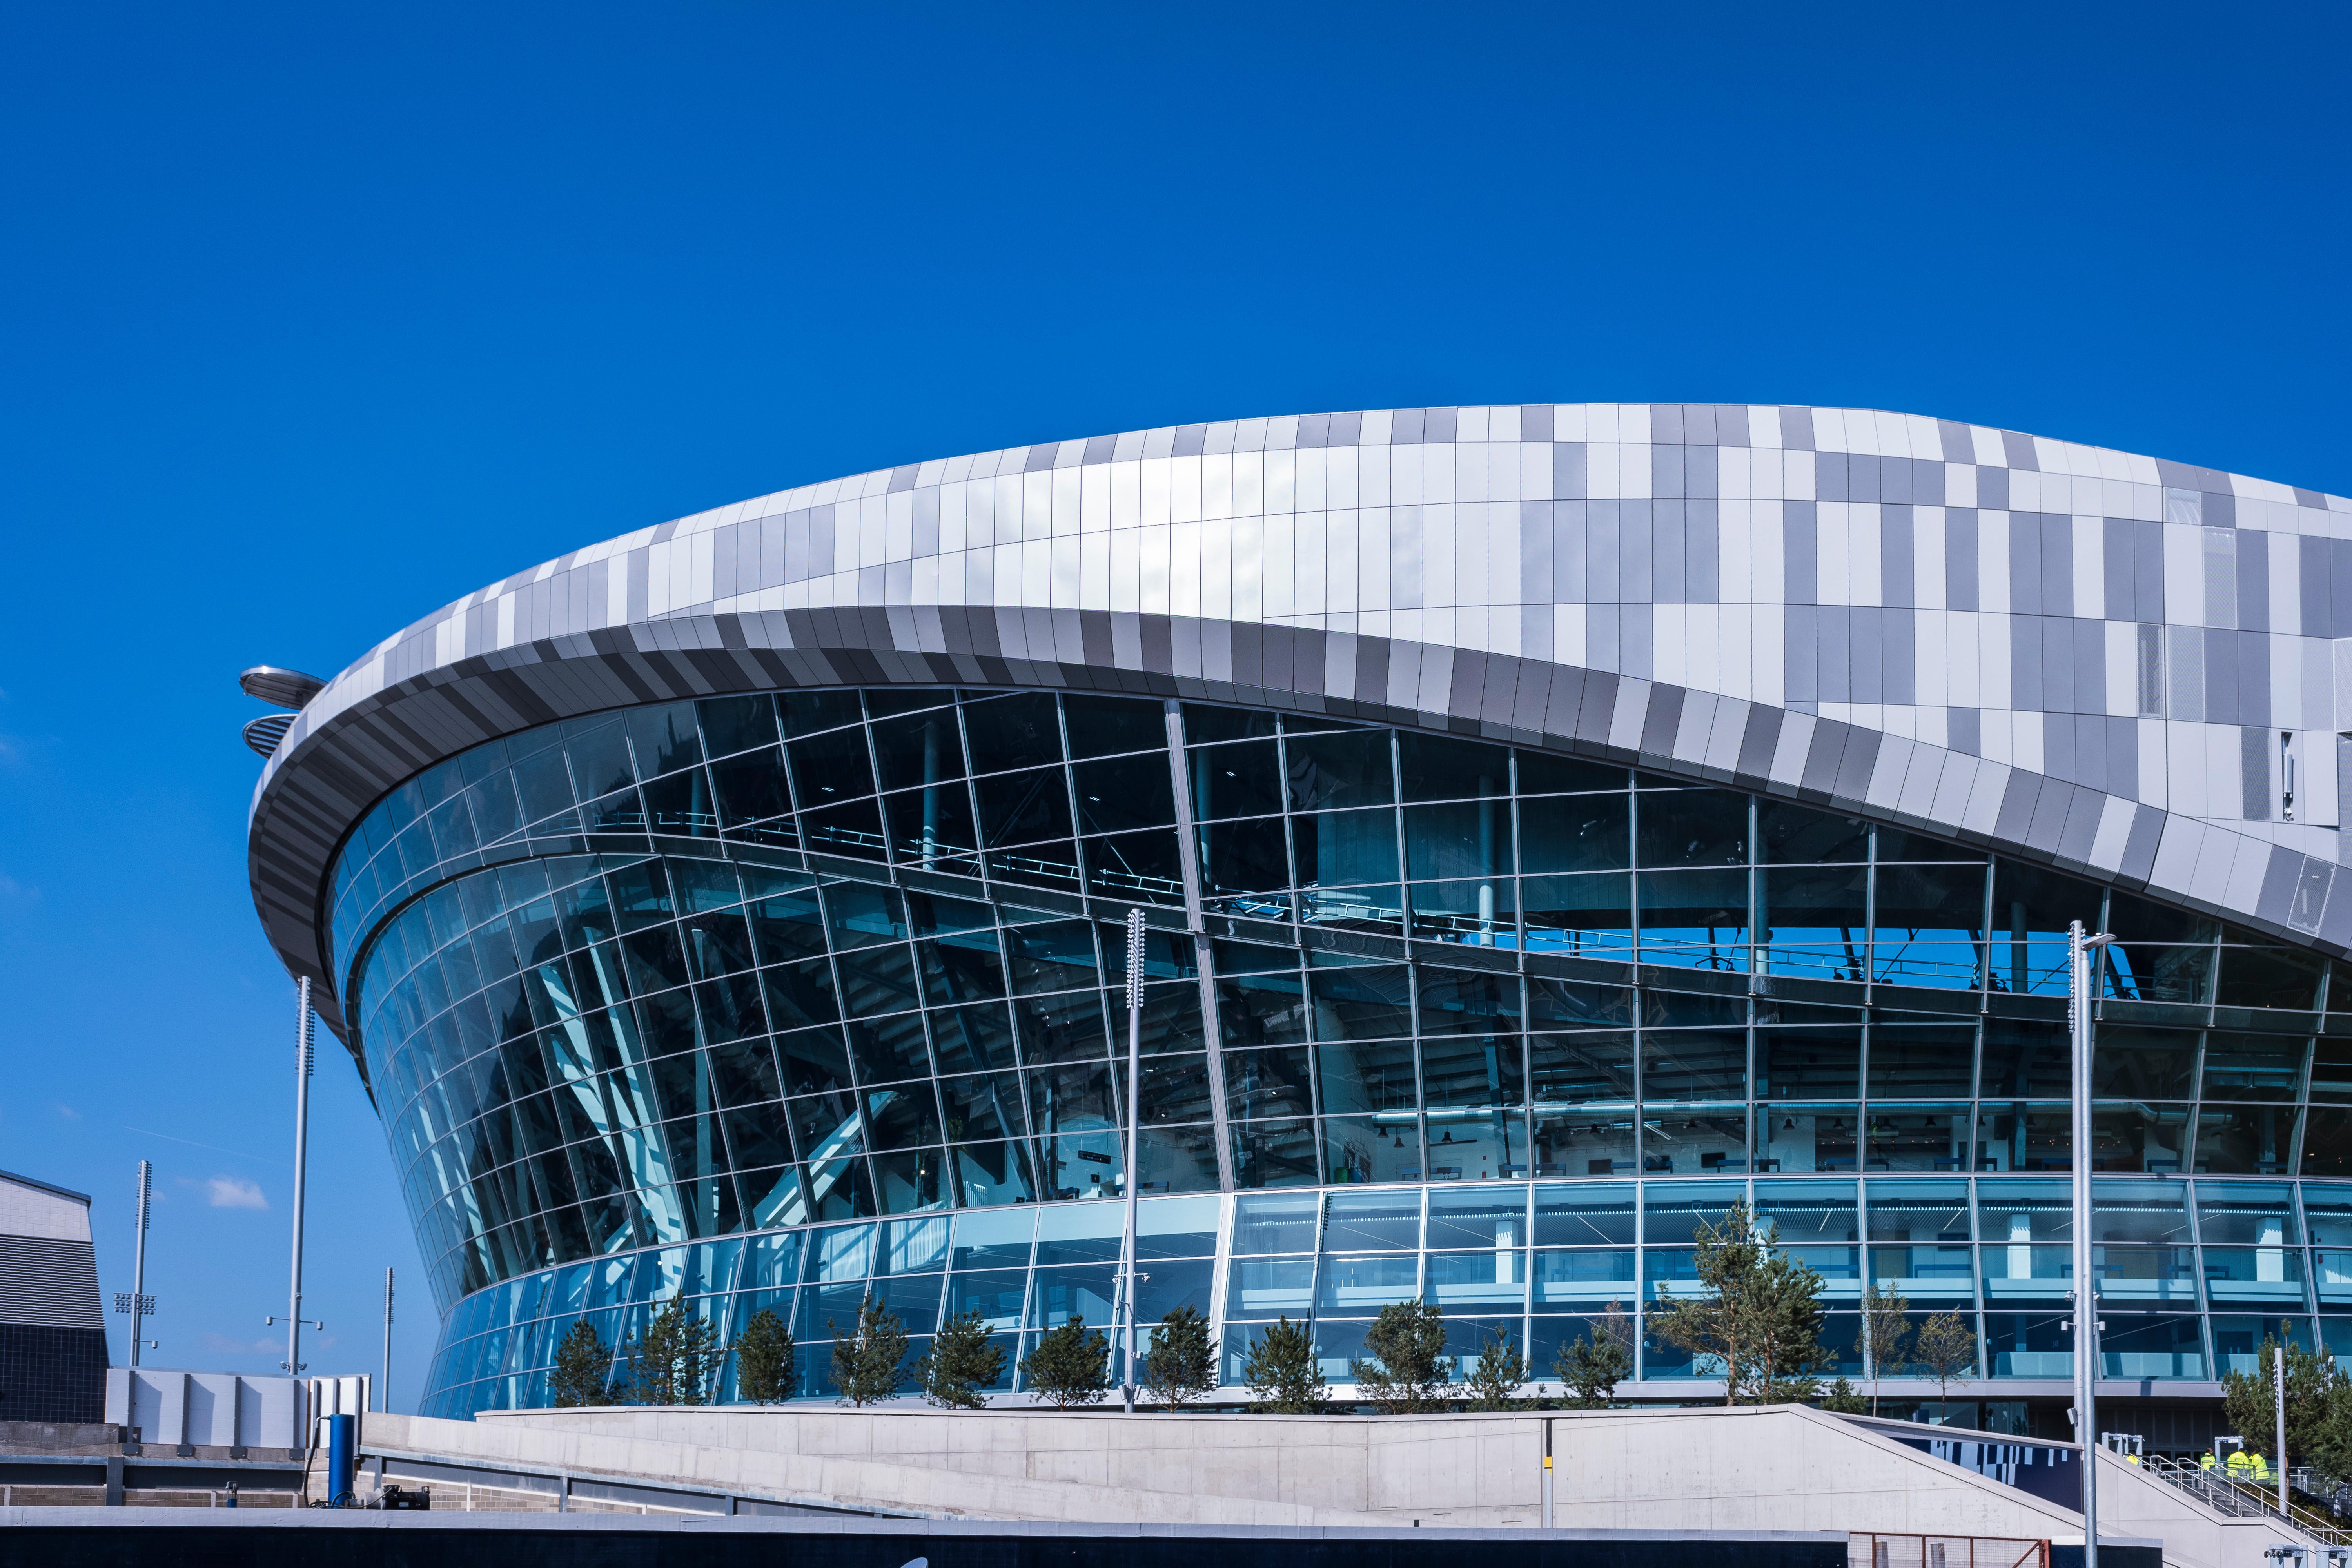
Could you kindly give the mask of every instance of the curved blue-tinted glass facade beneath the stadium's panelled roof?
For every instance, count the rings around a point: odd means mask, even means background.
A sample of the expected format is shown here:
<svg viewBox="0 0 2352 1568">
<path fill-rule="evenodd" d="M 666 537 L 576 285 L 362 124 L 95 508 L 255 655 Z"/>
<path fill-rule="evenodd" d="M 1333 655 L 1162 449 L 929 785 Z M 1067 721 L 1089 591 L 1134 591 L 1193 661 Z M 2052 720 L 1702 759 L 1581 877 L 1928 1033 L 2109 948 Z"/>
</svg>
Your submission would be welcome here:
<svg viewBox="0 0 2352 1568">
<path fill-rule="evenodd" d="M 2070 919 L 2122 938 L 2107 1375 L 2211 1382 L 2281 1319 L 2352 1354 L 2352 1187 L 2284 1180 L 2343 1173 L 2352 976 L 1799 802 L 1207 703 L 793 691 L 468 750 L 332 889 L 456 1307 L 435 1415 L 541 1403 L 572 1319 L 616 1345 L 673 1295 L 722 1335 L 776 1307 L 809 1396 L 868 1291 L 917 1342 L 1105 1324 L 1134 903 L 1141 1312 L 1214 1314 L 1228 1380 L 1275 1314 L 1345 1380 L 1414 1295 L 1461 1363 L 1510 1328 L 1548 1366 L 1743 1194 L 1828 1281 L 1835 1371 L 1877 1279 L 1980 1324 L 1978 1394 L 2065 1378 Z M 1630 1392 L 1691 1375 L 1646 1338 Z"/>
</svg>

